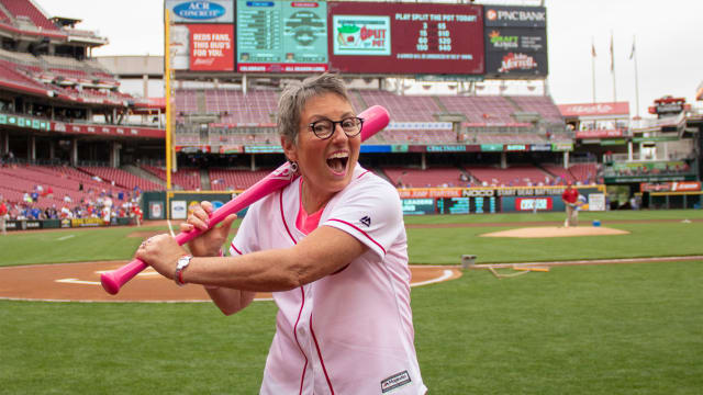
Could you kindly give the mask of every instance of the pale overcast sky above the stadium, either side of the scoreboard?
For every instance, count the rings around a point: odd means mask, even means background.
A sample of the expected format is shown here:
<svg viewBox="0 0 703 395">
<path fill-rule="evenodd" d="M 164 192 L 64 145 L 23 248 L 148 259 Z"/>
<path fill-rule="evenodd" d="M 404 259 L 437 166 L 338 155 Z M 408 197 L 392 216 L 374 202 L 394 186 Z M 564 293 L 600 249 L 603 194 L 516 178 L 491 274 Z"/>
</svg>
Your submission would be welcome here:
<svg viewBox="0 0 703 395">
<path fill-rule="evenodd" d="M 110 44 L 101 55 L 163 55 L 163 0 L 35 0 L 51 16 L 83 20 L 79 29 L 97 30 Z M 481 1 L 478 1 L 479 3 Z M 483 3 L 489 3 L 484 1 Z M 537 4 L 538 1 L 490 3 Z M 557 104 L 593 99 L 591 43 L 594 43 L 595 99 L 614 99 L 610 71 L 614 36 L 617 101 L 636 114 L 635 67 L 628 59 L 636 37 L 639 113 L 665 94 L 695 103 L 703 82 L 703 1 L 701 0 L 545 0 L 549 50 L 549 91 Z"/>
</svg>

